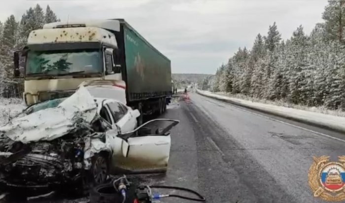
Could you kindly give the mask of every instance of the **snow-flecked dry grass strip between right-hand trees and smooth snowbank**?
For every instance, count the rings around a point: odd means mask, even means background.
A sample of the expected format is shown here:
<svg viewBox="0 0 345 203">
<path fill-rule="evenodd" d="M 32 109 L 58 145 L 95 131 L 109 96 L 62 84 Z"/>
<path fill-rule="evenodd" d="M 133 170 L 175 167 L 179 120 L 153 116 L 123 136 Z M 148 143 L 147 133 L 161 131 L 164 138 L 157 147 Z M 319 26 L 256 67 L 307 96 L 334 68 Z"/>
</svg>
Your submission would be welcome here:
<svg viewBox="0 0 345 203">
<path fill-rule="evenodd" d="M 306 111 L 311 111 L 311 112 L 316 112 L 316 113 L 345 117 L 345 111 L 342 111 L 340 109 L 339 110 L 330 110 L 324 106 L 318 106 L 318 107 L 312 106 L 311 107 L 311 106 L 304 106 L 304 105 L 299 105 L 299 104 L 291 104 L 291 103 L 283 102 L 283 101 L 270 101 L 270 100 L 265 100 L 265 99 L 252 98 L 252 97 L 248 97 L 248 96 L 245 96 L 242 94 L 233 95 L 233 94 L 226 93 L 226 92 L 210 92 L 210 91 L 204 91 L 204 92 L 208 92 L 211 94 L 217 94 L 217 95 L 221 95 L 221 96 L 227 96 L 230 98 L 247 100 L 250 102 L 273 104 L 276 106 L 283 106 L 283 107 L 295 108 L 295 109 L 306 110 Z"/>
</svg>

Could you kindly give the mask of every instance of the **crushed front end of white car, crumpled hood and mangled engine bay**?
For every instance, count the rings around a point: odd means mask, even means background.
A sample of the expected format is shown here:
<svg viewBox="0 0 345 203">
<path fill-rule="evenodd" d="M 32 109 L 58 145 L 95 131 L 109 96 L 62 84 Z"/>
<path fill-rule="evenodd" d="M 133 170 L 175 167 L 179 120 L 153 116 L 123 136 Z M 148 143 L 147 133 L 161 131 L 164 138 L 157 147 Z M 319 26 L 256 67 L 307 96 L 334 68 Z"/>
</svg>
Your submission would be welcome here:
<svg viewBox="0 0 345 203">
<path fill-rule="evenodd" d="M 0 127 L 2 187 L 61 187 L 82 180 L 99 153 L 110 156 L 105 132 L 111 126 L 85 87 L 45 105 L 28 107 Z"/>
</svg>

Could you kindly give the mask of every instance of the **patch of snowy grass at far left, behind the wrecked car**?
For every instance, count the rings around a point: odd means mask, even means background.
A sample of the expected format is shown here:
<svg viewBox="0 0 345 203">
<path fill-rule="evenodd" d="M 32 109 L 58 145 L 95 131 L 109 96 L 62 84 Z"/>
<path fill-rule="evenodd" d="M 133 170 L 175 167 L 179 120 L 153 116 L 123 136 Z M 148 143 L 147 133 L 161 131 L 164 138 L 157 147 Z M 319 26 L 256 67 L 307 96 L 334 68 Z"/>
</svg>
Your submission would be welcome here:
<svg viewBox="0 0 345 203">
<path fill-rule="evenodd" d="M 0 98 L 0 126 L 26 108 L 23 100 L 18 98 Z"/>
</svg>

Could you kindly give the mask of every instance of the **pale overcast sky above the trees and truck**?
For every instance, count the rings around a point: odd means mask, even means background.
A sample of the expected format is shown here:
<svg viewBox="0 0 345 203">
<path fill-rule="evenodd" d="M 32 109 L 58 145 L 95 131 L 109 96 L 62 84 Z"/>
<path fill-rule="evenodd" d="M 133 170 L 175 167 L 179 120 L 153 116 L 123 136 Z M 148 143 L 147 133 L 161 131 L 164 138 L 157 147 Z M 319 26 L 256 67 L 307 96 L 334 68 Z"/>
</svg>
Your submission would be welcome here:
<svg viewBox="0 0 345 203">
<path fill-rule="evenodd" d="M 210 73 L 276 21 L 282 38 L 322 22 L 326 0 L 8 0 L 0 21 L 47 4 L 61 20 L 124 18 L 172 61 L 173 73 Z"/>
</svg>

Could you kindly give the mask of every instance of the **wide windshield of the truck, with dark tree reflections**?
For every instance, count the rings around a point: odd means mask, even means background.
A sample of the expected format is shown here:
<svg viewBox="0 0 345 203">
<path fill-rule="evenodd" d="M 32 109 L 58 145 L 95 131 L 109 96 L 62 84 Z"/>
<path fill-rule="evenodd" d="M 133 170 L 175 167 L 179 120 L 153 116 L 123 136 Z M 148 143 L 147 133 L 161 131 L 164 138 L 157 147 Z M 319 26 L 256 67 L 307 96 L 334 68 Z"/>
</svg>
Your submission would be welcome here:
<svg viewBox="0 0 345 203">
<path fill-rule="evenodd" d="M 29 51 L 26 75 L 102 73 L 101 50 Z"/>
</svg>

